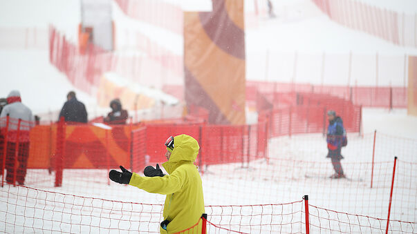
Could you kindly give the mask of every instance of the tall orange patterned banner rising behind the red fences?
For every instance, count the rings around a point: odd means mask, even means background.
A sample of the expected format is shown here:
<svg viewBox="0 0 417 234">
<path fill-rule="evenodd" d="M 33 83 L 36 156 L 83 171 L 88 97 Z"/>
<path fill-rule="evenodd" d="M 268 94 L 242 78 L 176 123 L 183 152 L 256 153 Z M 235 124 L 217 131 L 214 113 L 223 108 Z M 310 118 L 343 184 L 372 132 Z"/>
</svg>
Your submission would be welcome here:
<svg viewBox="0 0 417 234">
<path fill-rule="evenodd" d="M 211 124 L 245 124 L 243 0 L 213 0 L 212 12 L 184 14 L 185 101 Z"/>
</svg>

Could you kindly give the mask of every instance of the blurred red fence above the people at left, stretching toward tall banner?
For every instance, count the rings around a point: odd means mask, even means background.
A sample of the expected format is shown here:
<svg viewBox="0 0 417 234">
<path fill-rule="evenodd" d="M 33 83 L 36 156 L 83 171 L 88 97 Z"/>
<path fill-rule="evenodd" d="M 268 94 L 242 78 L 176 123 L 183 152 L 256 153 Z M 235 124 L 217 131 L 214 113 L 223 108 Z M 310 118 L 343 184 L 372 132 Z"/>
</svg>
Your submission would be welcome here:
<svg viewBox="0 0 417 234">
<path fill-rule="evenodd" d="M 98 88 L 100 77 L 105 72 L 116 72 L 132 82 L 155 87 L 162 86 L 160 81 L 171 80 L 173 74 L 182 74 L 182 61 L 178 56 L 160 49 L 154 43 L 150 44 L 148 56 L 116 55 L 105 52 L 92 43 L 88 44 L 85 51 L 81 51 L 75 43 L 68 41 L 51 26 L 48 44 L 50 63 L 63 72 L 73 86 L 88 93 L 93 88 Z"/>
</svg>

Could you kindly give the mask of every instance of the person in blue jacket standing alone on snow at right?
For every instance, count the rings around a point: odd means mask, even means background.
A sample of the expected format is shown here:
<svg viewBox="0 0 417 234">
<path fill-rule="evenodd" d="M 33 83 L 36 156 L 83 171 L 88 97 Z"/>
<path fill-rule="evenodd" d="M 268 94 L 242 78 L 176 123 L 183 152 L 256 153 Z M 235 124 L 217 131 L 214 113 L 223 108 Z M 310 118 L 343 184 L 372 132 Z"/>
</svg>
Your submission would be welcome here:
<svg viewBox="0 0 417 234">
<path fill-rule="evenodd" d="M 327 128 L 327 157 L 331 158 L 331 163 L 335 170 L 335 174 L 331 176 L 333 179 L 343 178 L 343 168 L 340 160 L 343 159 L 341 154 L 342 146 L 346 141 L 346 131 L 343 127 L 342 118 L 336 115 L 334 110 L 329 110 L 327 113 L 328 128 Z"/>
</svg>

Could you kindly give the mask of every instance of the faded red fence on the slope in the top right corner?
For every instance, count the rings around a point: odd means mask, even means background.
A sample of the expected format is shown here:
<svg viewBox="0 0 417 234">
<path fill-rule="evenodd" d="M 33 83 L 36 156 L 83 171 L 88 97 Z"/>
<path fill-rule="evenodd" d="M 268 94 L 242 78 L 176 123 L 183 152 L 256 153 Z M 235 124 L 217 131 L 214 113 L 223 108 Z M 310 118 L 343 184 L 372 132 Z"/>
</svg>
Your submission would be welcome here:
<svg viewBox="0 0 417 234">
<path fill-rule="evenodd" d="M 330 19 L 401 46 L 417 47 L 416 15 L 351 0 L 313 0 Z M 383 20 L 382 20 L 383 19 Z"/>
</svg>

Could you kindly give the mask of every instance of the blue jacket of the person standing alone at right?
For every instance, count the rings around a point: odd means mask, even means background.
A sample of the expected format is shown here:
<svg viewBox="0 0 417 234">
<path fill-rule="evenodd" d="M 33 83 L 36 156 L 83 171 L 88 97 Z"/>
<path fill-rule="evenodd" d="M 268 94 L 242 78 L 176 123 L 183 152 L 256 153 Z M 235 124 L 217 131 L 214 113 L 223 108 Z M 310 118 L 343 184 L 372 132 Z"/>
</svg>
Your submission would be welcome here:
<svg viewBox="0 0 417 234">
<path fill-rule="evenodd" d="M 337 116 L 332 121 L 328 121 L 326 138 L 328 148 L 327 157 L 337 157 L 339 159 L 343 158 L 340 154 L 343 137 L 346 137 L 346 133 L 344 130 L 342 118 Z"/>
</svg>

